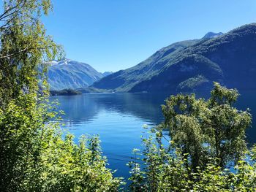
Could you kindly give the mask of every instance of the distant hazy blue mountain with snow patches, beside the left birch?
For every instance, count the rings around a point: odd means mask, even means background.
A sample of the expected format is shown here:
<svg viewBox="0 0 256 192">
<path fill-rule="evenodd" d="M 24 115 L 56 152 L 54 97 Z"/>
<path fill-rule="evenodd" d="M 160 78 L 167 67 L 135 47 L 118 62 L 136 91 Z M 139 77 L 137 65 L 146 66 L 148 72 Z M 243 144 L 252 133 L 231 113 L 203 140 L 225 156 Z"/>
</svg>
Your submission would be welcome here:
<svg viewBox="0 0 256 192">
<path fill-rule="evenodd" d="M 51 90 L 88 87 L 102 77 L 103 74 L 89 64 L 70 59 L 52 61 L 48 67 L 48 82 Z"/>
</svg>

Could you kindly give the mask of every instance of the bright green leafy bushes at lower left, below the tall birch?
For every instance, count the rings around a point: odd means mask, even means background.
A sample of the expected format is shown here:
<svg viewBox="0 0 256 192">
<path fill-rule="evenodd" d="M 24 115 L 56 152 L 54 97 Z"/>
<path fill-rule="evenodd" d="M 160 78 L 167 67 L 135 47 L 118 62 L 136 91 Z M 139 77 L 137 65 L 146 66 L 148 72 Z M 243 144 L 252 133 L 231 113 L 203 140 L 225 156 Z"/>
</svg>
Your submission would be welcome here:
<svg viewBox="0 0 256 192">
<path fill-rule="evenodd" d="M 27 94 L 0 111 L 1 191 L 117 191 L 98 138 L 63 139 L 49 109 Z"/>
</svg>

